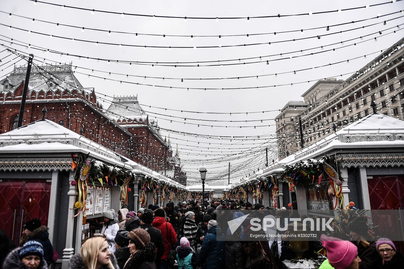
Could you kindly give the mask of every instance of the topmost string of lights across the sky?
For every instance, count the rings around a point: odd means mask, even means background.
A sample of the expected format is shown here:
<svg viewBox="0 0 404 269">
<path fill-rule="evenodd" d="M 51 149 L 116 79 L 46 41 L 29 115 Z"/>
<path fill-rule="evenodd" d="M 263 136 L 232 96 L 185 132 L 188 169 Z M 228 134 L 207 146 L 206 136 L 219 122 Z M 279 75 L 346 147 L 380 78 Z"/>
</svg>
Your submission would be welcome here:
<svg viewBox="0 0 404 269">
<path fill-rule="evenodd" d="M 382 2 L 378 4 L 372 4 L 372 5 L 366 5 L 366 6 L 357 6 L 357 7 L 352 7 L 352 8 L 341 8 L 338 10 L 330 10 L 330 11 L 318 11 L 318 12 L 307 12 L 307 13 L 300 13 L 300 14 L 276 14 L 276 15 L 267 15 L 267 16 L 247 16 L 247 17 L 189 17 L 189 16 L 168 16 L 168 15 L 147 15 L 147 14 L 136 14 L 136 13 L 124 13 L 124 12 L 116 12 L 116 11 L 105 11 L 105 10 L 98 10 L 98 9 L 90 9 L 90 8 L 82 8 L 78 6 L 67 6 L 67 5 L 62 5 L 62 4 L 55 4 L 55 3 L 49 3 L 49 2 L 44 2 L 44 1 L 38 1 L 38 0 L 29 0 L 32 1 L 34 4 L 41 3 L 41 4 L 47 4 L 47 5 L 52 5 L 52 6 L 59 6 L 62 9 L 65 8 L 72 8 L 76 10 L 82 10 L 82 11 L 89 11 L 90 14 L 94 15 L 95 13 L 108 13 L 108 14 L 115 14 L 115 15 L 120 15 L 121 17 L 126 16 L 137 16 L 137 17 L 150 17 L 150 18 L 165 18 L 165 19 L 183 19 L 186 21 L 187 19 L 202 19 L 202 20 L 215 20 L 216 22 L 219 22 L 219 20 L 229 20 L 229 19 L 246 19 L 246 21 L 250 21 L 250 19 L 264 19 L 264 18 L 280 18 L 280 17 L 291 17 L 291 16 L 311 16 L 311 15 L 317 15 L 317 14 L 330 14 L 330 13 L 341 13 L 343 11 L 351 11 L 351 10 L 358 10 L 362 8 L 370 8 L 374 6 L 382 6 L 385 4 L 391 4 L 395 2 L 399 2 L 401 0 L 391 0 L 389 2 Z"/>
</svg>

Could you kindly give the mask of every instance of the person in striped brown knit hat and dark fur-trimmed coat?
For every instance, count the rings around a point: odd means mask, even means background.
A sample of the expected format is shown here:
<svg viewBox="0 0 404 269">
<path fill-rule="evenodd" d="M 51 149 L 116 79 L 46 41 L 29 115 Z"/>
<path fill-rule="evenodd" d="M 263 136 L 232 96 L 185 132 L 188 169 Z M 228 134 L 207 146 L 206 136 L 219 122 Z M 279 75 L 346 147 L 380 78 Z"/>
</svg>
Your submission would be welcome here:
<svg viewBox="0 0 404 269">
<path fill-rule="evenodd" d="M 156 269 L 156 246 L 144 229 L 137 228 L 128 234 L 130 257 L 123 269 Z"/>
</svg>

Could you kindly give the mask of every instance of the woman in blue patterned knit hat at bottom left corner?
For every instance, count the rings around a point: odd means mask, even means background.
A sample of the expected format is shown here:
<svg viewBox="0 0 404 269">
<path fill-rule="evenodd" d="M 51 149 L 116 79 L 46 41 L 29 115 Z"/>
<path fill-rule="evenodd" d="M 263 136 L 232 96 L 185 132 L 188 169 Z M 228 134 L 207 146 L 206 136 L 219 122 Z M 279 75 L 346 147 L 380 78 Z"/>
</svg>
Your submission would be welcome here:
<svg viewBox="0 0 404 269">
<path fill-rule="evenodd" d="M 3 269 L 48 269 L 43 258 L 42 244 L 37 241 L 27 241 L 21 248 L 11 251 L 3 263 Z"/>
</svg>

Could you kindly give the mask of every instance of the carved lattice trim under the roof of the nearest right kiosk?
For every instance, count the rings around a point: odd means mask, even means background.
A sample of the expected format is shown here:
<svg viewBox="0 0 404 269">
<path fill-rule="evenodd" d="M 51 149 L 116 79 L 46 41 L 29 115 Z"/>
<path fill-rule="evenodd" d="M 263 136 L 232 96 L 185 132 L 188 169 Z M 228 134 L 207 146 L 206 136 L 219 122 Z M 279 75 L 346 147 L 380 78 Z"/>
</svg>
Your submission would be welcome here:
<svg viewBox="0 0 404 269">
<path fill-rule="evenodd" d="M 338 164 L 341 167 L 387 167 L 404 166 L 404 154 L 338 154 Z"/>
</svg>

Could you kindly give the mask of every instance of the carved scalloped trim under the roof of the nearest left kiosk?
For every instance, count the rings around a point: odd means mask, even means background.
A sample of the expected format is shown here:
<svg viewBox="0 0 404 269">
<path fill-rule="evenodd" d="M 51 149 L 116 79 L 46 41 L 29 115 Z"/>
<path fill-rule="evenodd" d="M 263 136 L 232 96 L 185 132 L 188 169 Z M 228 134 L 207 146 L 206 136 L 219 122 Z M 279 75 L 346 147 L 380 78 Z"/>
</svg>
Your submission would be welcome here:
<svg viewBox="0 0 404 269">
<path fill-rule="evenodd" d="M 7 158 L 0 159 L 2 171 L 52 171 L 72 169 L 71 158 Z"/>
</svg>

